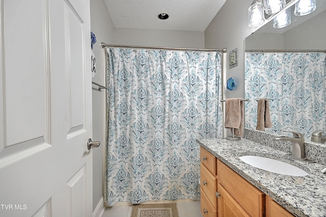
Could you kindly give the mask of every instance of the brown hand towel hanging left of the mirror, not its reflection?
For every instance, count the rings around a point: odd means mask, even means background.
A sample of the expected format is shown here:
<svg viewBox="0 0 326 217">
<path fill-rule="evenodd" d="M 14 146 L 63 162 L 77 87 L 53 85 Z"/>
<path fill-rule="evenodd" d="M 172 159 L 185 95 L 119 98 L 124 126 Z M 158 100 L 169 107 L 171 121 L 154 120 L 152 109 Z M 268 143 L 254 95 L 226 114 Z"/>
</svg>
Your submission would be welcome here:
<svg viewBox="0 0 326 217">
<path fill-rule="evenodd" d="M 236 136 L 243 136 L 243 116 L 244 106 L 241 101 L 242 98 L 230 98 L 225 100 L 225 122 L 224 127 L 234 128 Z"/>
</svg>

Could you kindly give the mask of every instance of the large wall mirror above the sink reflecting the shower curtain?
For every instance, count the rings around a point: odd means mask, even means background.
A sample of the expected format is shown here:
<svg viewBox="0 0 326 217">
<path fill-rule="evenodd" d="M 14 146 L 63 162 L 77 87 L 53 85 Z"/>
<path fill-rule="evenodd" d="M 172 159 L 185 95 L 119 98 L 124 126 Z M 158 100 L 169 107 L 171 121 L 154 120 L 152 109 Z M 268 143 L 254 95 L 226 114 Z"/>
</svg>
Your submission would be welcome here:
<svg viewBox="0 0 326 217">
<path fill-rule="evenodd" d="M 295 16 L 293 5 L 289 26 L 276 29 L 272 19 L 246 38 L 246 128 L 256 129 L 256 100 L 268 98 L 273 127 L 266 132 L 297 131 L 310 140 L 326 129 L 325 9 L 326 1 L 316 0 L 314 12 Z"/>
</svg>

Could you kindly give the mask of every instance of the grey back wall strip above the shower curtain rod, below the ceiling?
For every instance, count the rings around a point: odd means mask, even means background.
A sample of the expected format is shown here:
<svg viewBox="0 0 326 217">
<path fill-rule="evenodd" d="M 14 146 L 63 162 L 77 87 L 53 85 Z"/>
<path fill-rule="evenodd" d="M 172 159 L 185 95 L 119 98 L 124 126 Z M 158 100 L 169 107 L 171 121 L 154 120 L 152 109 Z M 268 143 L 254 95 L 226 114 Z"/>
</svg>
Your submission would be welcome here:
<svg viewBox="0 0 326 217">
<path fill-rule="evenodd" d="M 204 32 L 144 28 L 115 28 L 115 44 L 153 47 L 204 48 Z"/>
</svg>

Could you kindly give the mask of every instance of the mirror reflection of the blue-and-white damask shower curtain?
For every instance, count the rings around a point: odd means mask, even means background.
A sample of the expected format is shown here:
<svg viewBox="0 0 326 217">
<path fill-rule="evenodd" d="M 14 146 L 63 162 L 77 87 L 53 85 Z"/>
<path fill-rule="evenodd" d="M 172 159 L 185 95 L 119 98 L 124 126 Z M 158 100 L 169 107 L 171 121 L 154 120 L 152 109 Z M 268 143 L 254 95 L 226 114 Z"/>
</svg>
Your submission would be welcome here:
<svg viewBox="0 0 326 217">
<path fill-rule="evenodd" d="M 246 53 L 246 128 L 256 129 L 257 102 L 269 98 L 273 128 L 296 131 L 310 138 L 326 129 L 325 53 Z"/>
</svg>

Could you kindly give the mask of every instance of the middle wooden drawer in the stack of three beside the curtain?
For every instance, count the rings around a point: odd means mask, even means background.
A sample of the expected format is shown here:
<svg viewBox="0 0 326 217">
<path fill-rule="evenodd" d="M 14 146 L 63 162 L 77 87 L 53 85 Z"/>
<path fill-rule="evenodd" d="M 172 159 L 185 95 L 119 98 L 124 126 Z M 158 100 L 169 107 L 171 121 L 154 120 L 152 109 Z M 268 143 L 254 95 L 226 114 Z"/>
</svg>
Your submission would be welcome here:
<svg viewBox="0 0 326 217">
<path fill-rule="evenodd" d="M 212 175 L 203 164 L 200 164 L 200 187 L 215 209 L 218 208 L 215 196 L 215 192 L 218 191 L 217 184 L 216 176 Z"/>
</svg>

